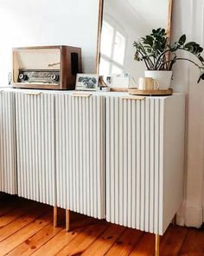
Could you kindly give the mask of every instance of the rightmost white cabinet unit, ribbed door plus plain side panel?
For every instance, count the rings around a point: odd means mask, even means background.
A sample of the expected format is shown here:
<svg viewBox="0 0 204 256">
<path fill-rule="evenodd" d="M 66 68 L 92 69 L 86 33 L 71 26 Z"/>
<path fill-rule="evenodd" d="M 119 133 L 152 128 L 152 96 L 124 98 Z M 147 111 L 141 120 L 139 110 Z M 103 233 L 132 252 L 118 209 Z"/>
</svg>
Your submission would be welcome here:
<svg viewBox="0 0 204 256">
<path fill-rule="evenodd" d="M 182 203 L 185 96 L 106 97 L 106 220 L 163 234 Z"/>
</svg>

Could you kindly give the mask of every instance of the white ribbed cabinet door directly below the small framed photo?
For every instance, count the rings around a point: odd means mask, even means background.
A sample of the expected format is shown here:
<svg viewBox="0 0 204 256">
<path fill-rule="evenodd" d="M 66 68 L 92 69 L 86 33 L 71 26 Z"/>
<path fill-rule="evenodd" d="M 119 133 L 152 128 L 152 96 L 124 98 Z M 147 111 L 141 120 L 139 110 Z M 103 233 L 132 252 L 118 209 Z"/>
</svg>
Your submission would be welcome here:
<svg viewBox="0 0 204 256">
<path fill-rule="evenodd" d="M 105 97 L 55 95 L 57 206 L 105 218 Z"/>
</svg>

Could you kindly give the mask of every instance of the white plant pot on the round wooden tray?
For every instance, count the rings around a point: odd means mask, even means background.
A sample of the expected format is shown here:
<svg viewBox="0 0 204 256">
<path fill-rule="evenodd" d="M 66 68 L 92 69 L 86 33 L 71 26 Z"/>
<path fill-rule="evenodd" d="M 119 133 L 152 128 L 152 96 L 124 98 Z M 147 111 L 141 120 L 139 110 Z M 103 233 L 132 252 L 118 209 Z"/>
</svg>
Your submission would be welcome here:
<svg viewBox="0 0 204 256">
<path fill-rule="evenodd" d="M 145 77 L 152 77 L 157 82 L 159 82 L 159 89 L 169 89 L 171 77 L 173 71 L 172 70 L 145 70 Z"/>
</svg>

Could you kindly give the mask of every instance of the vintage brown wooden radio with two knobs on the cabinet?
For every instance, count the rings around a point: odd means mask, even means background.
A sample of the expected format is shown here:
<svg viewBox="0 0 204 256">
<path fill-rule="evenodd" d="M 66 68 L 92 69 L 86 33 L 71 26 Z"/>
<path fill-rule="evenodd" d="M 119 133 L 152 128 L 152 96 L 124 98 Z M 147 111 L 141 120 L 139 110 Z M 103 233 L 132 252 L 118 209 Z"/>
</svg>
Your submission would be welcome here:
<svg viewBox="0 0 204 256">
<path fill-rule="evenodd" d="M 13 87 L 74 89 L 80 72 L 80 48 L 60 45 L 13 49 Z"/>
</svg>

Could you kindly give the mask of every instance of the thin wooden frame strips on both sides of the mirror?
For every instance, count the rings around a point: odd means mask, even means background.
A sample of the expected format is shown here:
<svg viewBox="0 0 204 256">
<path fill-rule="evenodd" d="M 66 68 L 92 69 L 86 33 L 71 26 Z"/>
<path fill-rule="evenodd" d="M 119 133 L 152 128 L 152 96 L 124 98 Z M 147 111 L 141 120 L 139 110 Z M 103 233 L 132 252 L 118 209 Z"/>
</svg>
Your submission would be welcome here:
<svg viewBox="0 0 204 256">
<path fill-rule="evenodd" d="M 168 6 L 166 31 L 167 31 L 167 36 L 170 38 L 173 0 L 169 0 L 168 5 L 169 6 Z M 100 41 L 101 41 L 101 30 L 102 30 L 102 23 L 103 23 L 103 10 L 104 10 L 104 0 L 99 0 L 99 22 L 98 22 L 98 38 L 97 38 L 97 54 L 96 54 L 96 72 L 97 72 L 97 74 L 99 74 Z"/>
</svg>

